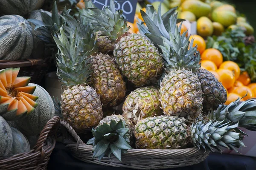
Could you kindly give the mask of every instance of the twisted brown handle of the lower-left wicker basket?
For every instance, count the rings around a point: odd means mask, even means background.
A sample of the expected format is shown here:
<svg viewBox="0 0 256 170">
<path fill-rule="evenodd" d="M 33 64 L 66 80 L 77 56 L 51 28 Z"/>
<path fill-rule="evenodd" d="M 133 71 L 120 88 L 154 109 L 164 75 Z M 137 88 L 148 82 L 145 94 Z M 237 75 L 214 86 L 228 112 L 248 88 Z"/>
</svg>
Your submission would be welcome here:
<svg viewBox="0 0 256 170">
<path fill-rule="evenodd" d="M 52 119 L 50 119 L 47 122 L 47 124 L 44 126 L 44 129 L 40 133 L 38 141 L 36 142 L 36 144 L 33 148 L 33 149 L 35 149 L 35 151 L 41 150 L 42 155 L 44 155 L 44 153 L 43 153 L 44 152 L 44 150 L 43 150 L 44 142 L 47 139 L 47 136 L 50 132 L 54 132 L 58 129 L 58 127 L 60 125 L 60 120 L 61 120 L 61 118 L 59 116 L 54 116 L 54 117 L 52 117 Z"/>
</svg>

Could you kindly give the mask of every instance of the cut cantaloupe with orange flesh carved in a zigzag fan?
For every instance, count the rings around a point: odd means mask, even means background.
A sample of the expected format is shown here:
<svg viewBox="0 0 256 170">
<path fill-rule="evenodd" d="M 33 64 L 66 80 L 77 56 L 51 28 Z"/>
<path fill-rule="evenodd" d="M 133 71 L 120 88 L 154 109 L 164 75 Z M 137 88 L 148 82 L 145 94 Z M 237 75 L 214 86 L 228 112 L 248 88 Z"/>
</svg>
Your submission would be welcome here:
<svg viewBox="0 0 256 170">
<path fill-rule="evenodd" d="M 36 86 L 27 86 L 30 77 L 17 77 L 19 68 L 0 71 L 0 116 L 6 120 L 24 118 L 37 107 Z"/>
</svg>

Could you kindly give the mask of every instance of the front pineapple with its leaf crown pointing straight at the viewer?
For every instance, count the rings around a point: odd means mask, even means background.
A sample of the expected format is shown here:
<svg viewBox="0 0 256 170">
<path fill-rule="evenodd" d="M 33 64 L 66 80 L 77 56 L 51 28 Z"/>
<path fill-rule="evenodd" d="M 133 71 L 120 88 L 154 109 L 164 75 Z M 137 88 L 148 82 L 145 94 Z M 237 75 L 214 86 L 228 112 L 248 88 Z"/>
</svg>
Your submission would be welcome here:
<svg viewBox="0 0 256 170">
<path fill-rule="evenodd" d="M 107 116 L 92 129 L 94 137 L 87 144 L 94 147 L 93 157 L 101 160 L 105 155 L 110 157 L 113 153 L 121 161 L 121 154 L 132 149 L 133 131 L 134 126 L 129 119 L 122 115 Z"/>
</svg>

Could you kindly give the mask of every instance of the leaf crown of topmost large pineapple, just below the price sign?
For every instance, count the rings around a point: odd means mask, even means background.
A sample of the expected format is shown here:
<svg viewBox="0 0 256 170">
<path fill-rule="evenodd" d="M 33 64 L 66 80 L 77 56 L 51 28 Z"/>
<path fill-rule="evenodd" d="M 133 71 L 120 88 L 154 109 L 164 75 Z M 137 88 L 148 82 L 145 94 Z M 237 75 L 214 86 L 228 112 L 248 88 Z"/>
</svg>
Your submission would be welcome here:
<svg viewBox="0 0 256 170">
<path fill-rule="evenodd" d="M 122 10 L 116 11 L 114 0 L 111 0 L 110 5 L 106 6 L 104 10 L 94 6 L 91 0 L 85 2 L 85 6 L 87 4 L 89 6 L 88 9 L 93 11 L 93 13 L 85 15 L 85 17 L 90 20 L 95 31 L 102 31 L 102 36 L 107 36 L 110 40 L 116 41 L 130 29 L 129 26 L 127 27 L 128 23 L 122 14 Z"/>
</svg>

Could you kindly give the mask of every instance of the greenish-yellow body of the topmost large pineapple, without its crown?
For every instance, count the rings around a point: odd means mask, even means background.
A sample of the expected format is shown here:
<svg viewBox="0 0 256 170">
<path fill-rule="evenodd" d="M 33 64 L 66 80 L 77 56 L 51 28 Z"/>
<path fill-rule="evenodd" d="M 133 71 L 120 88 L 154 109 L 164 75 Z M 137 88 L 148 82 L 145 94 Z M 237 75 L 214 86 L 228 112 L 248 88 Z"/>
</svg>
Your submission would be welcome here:
<svg viewBox="0 0 256 170">
<path fill-rule="evenodd" d="M 137 87 L 150 83 L 163 71 L 163 61 L 157 48 L 140 34 L 120 37 L 113 55 L 122 74 Z"/>
</svg>

